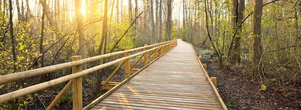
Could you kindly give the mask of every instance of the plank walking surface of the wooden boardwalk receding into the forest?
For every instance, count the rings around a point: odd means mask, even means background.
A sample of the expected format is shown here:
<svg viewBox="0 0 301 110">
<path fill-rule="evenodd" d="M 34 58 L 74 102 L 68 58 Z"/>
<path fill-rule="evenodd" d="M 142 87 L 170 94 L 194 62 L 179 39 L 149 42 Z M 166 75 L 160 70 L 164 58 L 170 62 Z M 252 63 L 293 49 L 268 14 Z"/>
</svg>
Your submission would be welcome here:
<svg viewBox="0 0 301 110">
<path fill-rule="evenodd" d="M 192 46 L 178 45 L 89 109 L 223 109 Z"/>
</svg>

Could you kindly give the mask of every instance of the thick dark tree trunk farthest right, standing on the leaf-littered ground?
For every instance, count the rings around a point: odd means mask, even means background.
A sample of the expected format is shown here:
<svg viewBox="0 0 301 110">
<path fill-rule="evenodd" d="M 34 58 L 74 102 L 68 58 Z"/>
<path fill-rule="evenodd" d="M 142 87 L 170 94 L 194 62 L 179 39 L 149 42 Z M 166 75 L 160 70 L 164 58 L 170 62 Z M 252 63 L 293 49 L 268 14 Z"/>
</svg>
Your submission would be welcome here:
<svg viewBox="0 0 301 110">
<path fill-rule="evenodd" d="M 262 16 L 262 0 L 254 0 L 254 16 L 252 24 L 253 43 L 253 78 L 257 77 L 263 71 L 262 63 L 262 35 L 261 35 L 261 16 Z"/>
</svg>

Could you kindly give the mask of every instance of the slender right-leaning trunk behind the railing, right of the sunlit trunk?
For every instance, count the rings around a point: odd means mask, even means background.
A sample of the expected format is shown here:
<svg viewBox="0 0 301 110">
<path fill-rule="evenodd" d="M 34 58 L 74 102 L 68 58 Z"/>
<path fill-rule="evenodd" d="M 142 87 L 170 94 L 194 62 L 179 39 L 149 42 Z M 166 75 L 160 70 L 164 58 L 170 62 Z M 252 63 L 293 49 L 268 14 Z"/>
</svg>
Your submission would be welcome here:
<svg viewBox="0 0 301 110">
<path fill-rule="evenodd" d="M 107 12 L 108 12 L 108 0 L 104 0 L 104 14 L 103 14 L 103 21 L 102 21 L 102 33 L 99 48 L 97 51 L 97 55 L 100 55 L 102 52 L 103 42 L 105 38 L 105 34 L 107 31 Z M 97 60 L 96 64 L 100 64 L 100 60 Z M 96 84 L 95 84 L 95 94 L 99 94 L 100 91 L 100 84 L 102 78 L 102 70 L 96 71 Z"/>
</svg>

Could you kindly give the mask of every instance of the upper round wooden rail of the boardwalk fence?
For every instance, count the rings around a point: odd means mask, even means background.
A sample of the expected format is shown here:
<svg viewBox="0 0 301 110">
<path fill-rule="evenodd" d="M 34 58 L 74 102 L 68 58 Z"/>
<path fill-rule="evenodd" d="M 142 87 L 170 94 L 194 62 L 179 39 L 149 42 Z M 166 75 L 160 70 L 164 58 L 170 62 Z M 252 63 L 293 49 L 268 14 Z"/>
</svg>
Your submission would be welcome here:
<svg viewBox="0 0 301 110">
<path fill-rule="evenodd" d="M 175 40 L 167 41 L 167 42 L 170 43 L 170 42 L 173 42 L 173 41 L 175 41 Z M 163 43 L 166 43 L 166 42 L 163 42 Z M 37 68 L 37 69 L 32 69 L 32 70 L 27 70 L 27 71 L 22 71 L 22 72 L 7 74 L 7 75 L 2 75 L 2 76 L 0 76 L 0 85 L 5 84 L 7 82 L 17 81 L 17 80 L 21 80 L 21 79 L 25 79 L 25 78 L 30 78 L 30 77 L 33 77 L 33 76 L 53 72 L 53 71 L 56 71 L 56 70 L 61 70 L 61 69 L 64 69 L 64 68 L 69 68 L 69 67 L 72 67 L 72 66 L 75 66 L 75 65 L 80 65 L 80 64 L 100 60 L 102 58 L 123 54 L 123 53 L 126 53 L 126 52 L 132 52 L 132 51 L 136 51 L 136 50 L 139 50 L 139 49 L 152 47 L 152 46 L 159 45 L 159 44 L 162 44 L 162 43 L 148 45 L 148 46 L 142 46 L 142 47 L 133 48 L 133 49 L 129 49 L 129 50 L 123 50 L 123 51 L 107 53 L 107 54 L 103 54 L 103 55 L 98 55 L 98 56 L 85 58 L 85 59 L 82 59 L 82 60 L 70 61 L 70 62 L 51 65 L 51 66 L 47 66 L 47 67 L 42 67 L 42 68 Z"/>
</svg>

